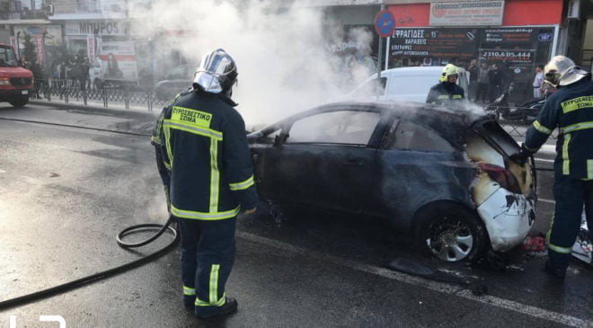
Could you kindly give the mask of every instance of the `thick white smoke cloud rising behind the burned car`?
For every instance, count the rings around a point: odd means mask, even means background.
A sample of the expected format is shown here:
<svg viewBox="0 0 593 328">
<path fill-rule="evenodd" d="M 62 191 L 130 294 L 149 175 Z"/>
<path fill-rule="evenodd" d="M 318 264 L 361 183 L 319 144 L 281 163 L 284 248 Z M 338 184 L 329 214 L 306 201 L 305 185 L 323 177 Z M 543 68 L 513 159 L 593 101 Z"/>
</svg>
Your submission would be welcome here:
<svg viewBox="0 0 593 328">
<path fill-rule="evenodd" d="M 271 123 L 311 108 L 350 92 L 375 73 L 370 58 L 360 60 L 361 55 L 370 55 L 369 31 L 350 31 L 357 58 L 350 54 L 344 59 L 344 51 L 332 55 L 336 49 L 328 46 L 340 40 L 343 31 L 318 7 L 278 8 L 278 1 L 236 3 L 240 4 L 159 0 L 147 12 L 135 11 L 135 16 L 145 18 L 132 29 L 147 36 L 184 31 L 169 44 L 157 39 L 161 42 L 156 49 L 176 48 L 196 63 L 208 51 L 225 49 L 237 64 L 239 84 L 233 98 L 248 124 Z M 350 59 L 358 61 L 351 65 Z"/>
</svg>

